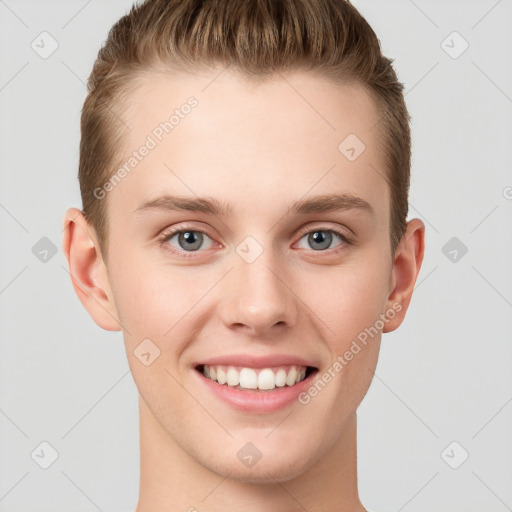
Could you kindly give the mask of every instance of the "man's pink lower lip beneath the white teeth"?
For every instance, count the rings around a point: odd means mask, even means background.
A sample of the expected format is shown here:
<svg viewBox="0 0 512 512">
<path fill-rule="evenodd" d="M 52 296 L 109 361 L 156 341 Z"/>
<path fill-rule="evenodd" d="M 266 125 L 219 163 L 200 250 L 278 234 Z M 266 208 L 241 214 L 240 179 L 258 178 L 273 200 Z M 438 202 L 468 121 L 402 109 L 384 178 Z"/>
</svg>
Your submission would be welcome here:
<svg viewBox="0 0 512 512">
<path fill-rule="evenodd" d="M 293 386 L 275 387 L 271 391 L 241 390 L 226 384 L 219 384 L 217 381 L 205 377 L 201 372 L 194 369 L 200 382 L 213 393 L 217 398 L 231 405 L 235 409 L 244 412 L 269 413 L 283 409 L 284 407 L 298 401 L 300 393 L 311 386 L 312 380 L 317 373 L 313 371 L 307 378 Z"/>
</svg>

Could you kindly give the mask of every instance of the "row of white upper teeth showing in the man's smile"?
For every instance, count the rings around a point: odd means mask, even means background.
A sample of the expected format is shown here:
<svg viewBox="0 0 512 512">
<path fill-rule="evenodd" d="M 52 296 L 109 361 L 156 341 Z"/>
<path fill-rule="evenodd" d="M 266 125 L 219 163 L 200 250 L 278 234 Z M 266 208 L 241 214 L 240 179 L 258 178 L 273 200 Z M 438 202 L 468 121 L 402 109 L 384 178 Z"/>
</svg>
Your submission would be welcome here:
<svg viewBox="0 0 512 512">
<path fill-rule="evenodd" d="M 203 366 L 203 375 L 219 384 L 242 389 L 261 389 L 270 391 L 276 387 L 293 386 L 305 379 L 305 366 L 285 368 L 235 368 L 233 366 Z M 239 371 L 240 370 L 240 371 Z"/>
</svg>

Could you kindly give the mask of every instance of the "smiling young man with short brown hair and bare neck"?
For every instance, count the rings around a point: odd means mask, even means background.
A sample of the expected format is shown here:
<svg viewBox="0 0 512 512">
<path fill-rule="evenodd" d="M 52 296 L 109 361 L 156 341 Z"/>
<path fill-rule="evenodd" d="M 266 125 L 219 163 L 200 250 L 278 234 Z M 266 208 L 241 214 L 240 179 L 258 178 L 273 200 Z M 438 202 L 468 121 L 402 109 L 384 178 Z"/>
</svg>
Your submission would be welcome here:
<svg viewBox="0 0 512 512">
<path fill-rule="evenodd" d="M 409 116 L 341 0 L 149 0 L 82 112 L 73 286 L 139 390 L 137 512 L 364 511 L 356 410 L 424 252 Z"/>
</svg>

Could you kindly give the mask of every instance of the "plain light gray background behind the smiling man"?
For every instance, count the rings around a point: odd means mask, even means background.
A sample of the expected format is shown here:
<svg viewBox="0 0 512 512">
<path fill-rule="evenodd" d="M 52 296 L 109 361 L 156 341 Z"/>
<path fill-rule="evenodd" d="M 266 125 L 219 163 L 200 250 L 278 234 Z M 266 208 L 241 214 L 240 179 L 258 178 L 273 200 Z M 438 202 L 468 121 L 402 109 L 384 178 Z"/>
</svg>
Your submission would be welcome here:
<svg viewBox="0 0 512 512">
<path fill-rule="evenodd" d="M 410 218 L 427 226 L 407 318 L 384 335 L 359 409 L 361 498 L 374 512 L 512 510 L 512 0 L 354 4 L 406 85 Z M 1 511 L 137 501 L 122 335 L 83 309 L 61 249 L 64 211 L 81 206 L 85 80 L 130 5 L 0 0 Z M 47 59 L 31 48 L 43 31 L 59 45 Z M 458 58 L 443 49 L 458 52 L 458 36 L 442 46 L 453 31 L 469 43 Z M 32 252 L 43 237 L 57 248 L 46 262 Z M 442 251 L 452 237 L 468 249 L 456 262 Z M 31 457 L 43 441 L 59 455 L 48 469 Z"/>
</svg>

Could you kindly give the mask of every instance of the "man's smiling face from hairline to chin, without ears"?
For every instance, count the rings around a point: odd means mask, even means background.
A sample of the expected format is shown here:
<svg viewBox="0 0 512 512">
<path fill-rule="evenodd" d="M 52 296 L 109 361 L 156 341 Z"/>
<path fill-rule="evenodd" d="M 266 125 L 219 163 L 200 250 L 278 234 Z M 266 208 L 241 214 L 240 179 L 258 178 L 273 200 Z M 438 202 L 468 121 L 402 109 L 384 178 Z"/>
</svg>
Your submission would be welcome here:
<svg viewBox="0 0 512 512">
<path fill-rule="evenodd" d="M 218 73 L 133 95 L 136 163 L 103 199 L 108 295 L 169 441 L 218 474 L 285 481 L 339 438 L 400 316 L 379 116 L 359 86 Z"/>
</svg>

